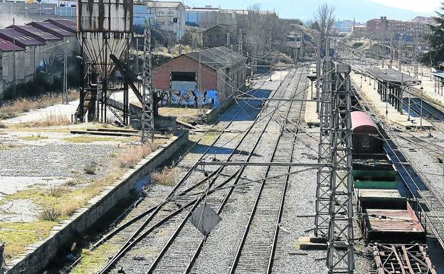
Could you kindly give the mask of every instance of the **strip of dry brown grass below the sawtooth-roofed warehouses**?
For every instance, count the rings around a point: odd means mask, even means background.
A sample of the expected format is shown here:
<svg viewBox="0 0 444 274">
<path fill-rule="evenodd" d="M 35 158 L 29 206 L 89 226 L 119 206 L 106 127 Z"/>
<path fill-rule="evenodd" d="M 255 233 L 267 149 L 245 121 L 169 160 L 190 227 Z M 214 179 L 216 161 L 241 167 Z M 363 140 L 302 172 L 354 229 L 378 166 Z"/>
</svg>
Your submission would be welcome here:
<svg viewBox="0 0 444 274">
<path fill-rule="evenodd" d="M 78 98 L 78 92 L 73 91 L 68 95 L 68 100 Z M 0 119 L 17 117 L 20 113 L 36 110 L 42 107 L 49 107 L 60 103 L 62 97 L 58 95 L 41 95 L 38 98 L 20 98 L 0 107 Z"/>
</svg>

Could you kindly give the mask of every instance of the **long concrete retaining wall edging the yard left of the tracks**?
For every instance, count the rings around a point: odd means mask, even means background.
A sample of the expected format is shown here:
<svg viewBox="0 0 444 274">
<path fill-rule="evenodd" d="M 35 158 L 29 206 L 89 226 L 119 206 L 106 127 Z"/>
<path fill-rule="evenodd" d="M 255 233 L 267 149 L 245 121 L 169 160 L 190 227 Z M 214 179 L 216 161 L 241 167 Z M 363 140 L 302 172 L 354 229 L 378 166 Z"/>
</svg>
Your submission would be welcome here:
<svg viewBox="0 0 444 274">
<path fill-rule="evenodd" d="M 12 264 L 14 266 L 6 274 L 42 273 L 46 265 L 58 255 L 61 247 L 69 246 L 75 242 L 75 237 L 85 234 L 97 219 L 104 216 L 129 194 L 134 184 L 159 167 L 187 142 L 188 132 L 181 132 L 179 136 L 173 137 L 170 142 L 159 147 L 146 159 L 142 159 L 134 169 L 130 169 L 119 180 L 88 201 L 87 206 L 55 226 L 48 238 L 29 246 L 28 253 L 14 260 Z"/>
</svg>

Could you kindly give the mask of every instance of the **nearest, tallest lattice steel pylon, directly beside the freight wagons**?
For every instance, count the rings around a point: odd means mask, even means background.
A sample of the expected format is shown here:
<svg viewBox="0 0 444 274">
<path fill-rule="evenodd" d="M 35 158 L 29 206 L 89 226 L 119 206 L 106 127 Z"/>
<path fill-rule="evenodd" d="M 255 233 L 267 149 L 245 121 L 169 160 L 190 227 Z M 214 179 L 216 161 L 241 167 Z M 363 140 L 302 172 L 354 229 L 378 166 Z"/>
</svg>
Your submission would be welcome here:
<svg viewBox="0 0 444 274">
<path fill-rule="evenodd" d="M 330 176 L 328 273 L 353 273 L 353 177 L 349 65 L 337 64 L 332 91 L 332 173 Z"/>
</svg>

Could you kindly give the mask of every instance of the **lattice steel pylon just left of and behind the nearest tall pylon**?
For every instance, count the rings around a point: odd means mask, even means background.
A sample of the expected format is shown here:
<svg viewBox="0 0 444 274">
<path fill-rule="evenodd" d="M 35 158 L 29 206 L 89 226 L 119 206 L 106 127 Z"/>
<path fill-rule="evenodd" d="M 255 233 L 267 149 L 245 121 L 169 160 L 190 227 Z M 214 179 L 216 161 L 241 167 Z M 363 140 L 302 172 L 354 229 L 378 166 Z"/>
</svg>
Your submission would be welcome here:
<svg viewBox="0 0 444 274">
<path fill-rule="evenodd" d="M 322 77 L 321 105 L 319 110 L 319 157 L 318 163 L 332 163 L 332 62 L 329 57 L 324 59 L 324 75 Z M 320 69 L 320 65 L 318 65 Z M 320 73 L 319 73 L 320 75 Z M 321 78 L 318 79 L 318 81 Z M 327 238 L 329 228 L 330 174 L 332 167 L 321 167 L 317 171 L 316 216 L 314 218 L 314 235 Z"/>
</svg>

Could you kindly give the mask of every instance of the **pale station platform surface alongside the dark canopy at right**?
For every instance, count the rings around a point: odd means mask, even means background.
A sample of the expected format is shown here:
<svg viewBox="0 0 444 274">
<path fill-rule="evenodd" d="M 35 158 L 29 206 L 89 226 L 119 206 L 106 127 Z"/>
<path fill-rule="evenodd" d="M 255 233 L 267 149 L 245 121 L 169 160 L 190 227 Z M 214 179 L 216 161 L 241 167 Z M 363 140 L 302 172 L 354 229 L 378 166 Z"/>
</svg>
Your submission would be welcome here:
<svg viewBox="0 0 444 274">
<path fill-rule="evenodd" d="M 392 105 L 381 101 L 381 95 L 377 92 L 373 80 L 371 80 L 371 83 L 369 85 L 369 78 L 367 78 L 367 81 L 364 81 L 361 87 L 360 74 L 351 73 L 350 78 L 351 82 L 354 84 L 354 87 L 361 90 L 361 92 L 363 93 L 362 95 L 364 95 L 366 97 L 366 100 L 368 100 L 368 102 L 373 105 L 376 114 L 380 117 L 384 117 L 388 124 L 396 125 L 404 129 L 419 128 L 421 126 L 420 118 L 410 117 L 410 120 L 408 120 L 407 113 L 401 114 L 400 112 L 398 112 L 398 110 L 396 110 L 396 107 L 393 107 Z M 423 119 L 422 126 L 423 129 L 430 129 L 433 127 L 433 125 L 425 119 Z"/>
</svg>

